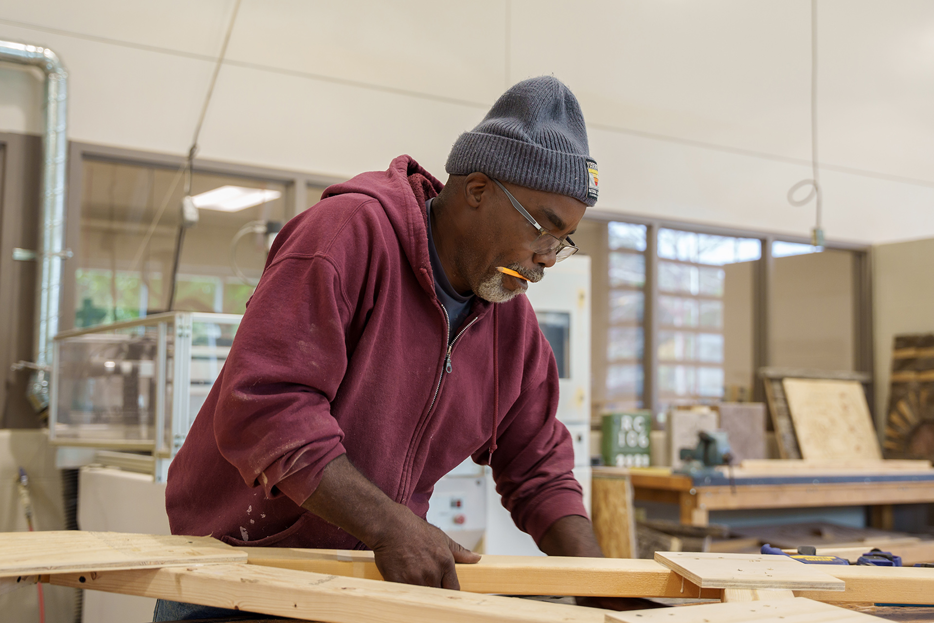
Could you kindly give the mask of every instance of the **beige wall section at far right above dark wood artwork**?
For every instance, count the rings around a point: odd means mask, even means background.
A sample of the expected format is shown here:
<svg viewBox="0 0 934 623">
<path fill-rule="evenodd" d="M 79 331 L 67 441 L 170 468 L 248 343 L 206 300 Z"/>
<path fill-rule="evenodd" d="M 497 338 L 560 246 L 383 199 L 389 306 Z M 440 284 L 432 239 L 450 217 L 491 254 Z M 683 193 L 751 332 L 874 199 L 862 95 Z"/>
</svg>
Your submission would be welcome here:
<svg viewBox="0 0 934 623">
<path fill-rule="evenodd" d="M 872 277 L 876 414 L 881 426 L 894 337 L 934 332 L 934 238 L 873 248 Z"/>
</svg>

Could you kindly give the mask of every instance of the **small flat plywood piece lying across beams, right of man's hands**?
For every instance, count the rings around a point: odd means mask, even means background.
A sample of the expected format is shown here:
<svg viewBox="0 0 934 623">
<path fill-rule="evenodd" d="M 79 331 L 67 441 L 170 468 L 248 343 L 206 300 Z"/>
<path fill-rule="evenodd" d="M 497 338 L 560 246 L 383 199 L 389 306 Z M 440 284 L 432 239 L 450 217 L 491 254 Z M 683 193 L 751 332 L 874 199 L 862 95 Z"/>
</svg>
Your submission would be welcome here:
<svg viewBox="0 0 934 623">
<path fill-rule="evenodd" d="M 818 565 L 768 554 L 656 552 L 655 559 L 701 588 L 843 590 Z"/>
</svg>

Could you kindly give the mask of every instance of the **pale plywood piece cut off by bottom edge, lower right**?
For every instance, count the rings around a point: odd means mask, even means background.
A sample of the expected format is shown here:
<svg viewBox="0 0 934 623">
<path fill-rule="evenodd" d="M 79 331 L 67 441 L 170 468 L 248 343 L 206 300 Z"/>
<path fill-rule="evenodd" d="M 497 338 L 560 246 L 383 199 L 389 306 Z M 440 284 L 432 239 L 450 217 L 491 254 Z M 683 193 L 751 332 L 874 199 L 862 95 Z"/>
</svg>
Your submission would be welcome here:
<svg viewBox="0 0 934 623">
<path fill-rule="evenodd" d="M 764 602 L 701 603 L 606 615 L 606 623 L 879 623 L 875 616 L 802 597 Z"/>
</svg>

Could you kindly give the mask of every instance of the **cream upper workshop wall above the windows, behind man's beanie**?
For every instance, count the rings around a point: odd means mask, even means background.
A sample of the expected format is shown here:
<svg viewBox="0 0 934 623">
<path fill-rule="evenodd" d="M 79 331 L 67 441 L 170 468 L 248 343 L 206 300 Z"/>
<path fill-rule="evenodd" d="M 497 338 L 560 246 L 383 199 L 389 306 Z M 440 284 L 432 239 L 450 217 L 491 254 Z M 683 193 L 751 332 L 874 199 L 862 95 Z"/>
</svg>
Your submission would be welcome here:
<svg viewBox="0 0 934 623">
<path fill-rule="evenodd" d="M 4 2 L 0 38 L 71 75 L 73 139 L 182 154 L 233 0 Z M 922 16 L 927 16 L 922 19 Z M 934 5 L 820 3 L 828 237 L 934 235 Z M 351 176 L 447 150 L 521 78 L 577 93 L 601 210 L 807 234 L 810 3 L 244 0 L 201 135 L 205 158 Z M 35 70 L 0 67 L 0 131 L 37 133 Z"/>
</svg>

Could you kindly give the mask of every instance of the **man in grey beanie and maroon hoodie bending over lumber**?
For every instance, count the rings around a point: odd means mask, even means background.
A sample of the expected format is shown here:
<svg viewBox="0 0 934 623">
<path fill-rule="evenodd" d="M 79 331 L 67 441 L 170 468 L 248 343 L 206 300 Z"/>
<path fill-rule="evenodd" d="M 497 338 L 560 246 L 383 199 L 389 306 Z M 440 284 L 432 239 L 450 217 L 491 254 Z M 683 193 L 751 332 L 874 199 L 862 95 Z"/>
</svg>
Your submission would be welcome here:
<svg viewBox="0 0 934 623">
<path fill-rule="evenodd" d="M 546 554 L 601 556 L 555 358 L 517 296 L 577 250 L 568 235 L 597 201 L 577 100 L 556 78 L 519 82 L 446 170 L 443 185 L 400 156 L 276 236 L 169 470 L 173 533 L 369 548 L 387 580 L 459 588 L 454 563 L 480 557 L 424 517 L 470 457 Z M 156 620 L 204 613 L 160 602 Z"/>
</svg>

